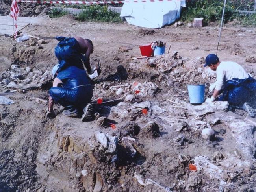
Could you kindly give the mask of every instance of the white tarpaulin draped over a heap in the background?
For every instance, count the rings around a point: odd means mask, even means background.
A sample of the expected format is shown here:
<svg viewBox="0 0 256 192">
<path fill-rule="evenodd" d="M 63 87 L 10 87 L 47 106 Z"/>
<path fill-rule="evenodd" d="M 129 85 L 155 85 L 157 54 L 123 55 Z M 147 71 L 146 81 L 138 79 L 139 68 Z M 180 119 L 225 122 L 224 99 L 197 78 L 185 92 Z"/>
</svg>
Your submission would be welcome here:
<svg viewBox="0 0 256 192">
<path fill-rule="evenodd" d="M 161 28 L 180 18 L 181 7 L 186 7 L 186 0 L 128 0 L 120 17 L 132 25 Z"/>
</svg>

